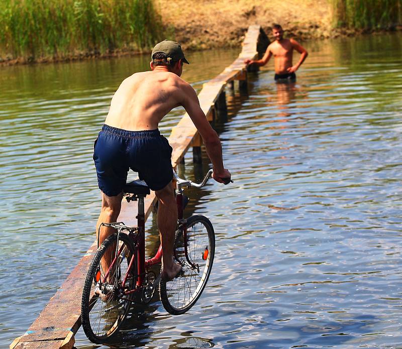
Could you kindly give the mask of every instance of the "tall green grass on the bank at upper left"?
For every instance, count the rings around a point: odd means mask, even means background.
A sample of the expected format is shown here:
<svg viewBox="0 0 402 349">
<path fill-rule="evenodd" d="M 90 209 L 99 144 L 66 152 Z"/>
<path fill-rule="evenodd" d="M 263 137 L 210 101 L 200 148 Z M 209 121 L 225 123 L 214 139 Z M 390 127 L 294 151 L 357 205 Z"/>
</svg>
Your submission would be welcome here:
<svg viewBox="0 0 402 349">
<path fill-rule="evenodd" d="M 0 0 L 0 23 L 11 58 L 143 50 L 163 35 L 153 0 Z"/>
</svg>

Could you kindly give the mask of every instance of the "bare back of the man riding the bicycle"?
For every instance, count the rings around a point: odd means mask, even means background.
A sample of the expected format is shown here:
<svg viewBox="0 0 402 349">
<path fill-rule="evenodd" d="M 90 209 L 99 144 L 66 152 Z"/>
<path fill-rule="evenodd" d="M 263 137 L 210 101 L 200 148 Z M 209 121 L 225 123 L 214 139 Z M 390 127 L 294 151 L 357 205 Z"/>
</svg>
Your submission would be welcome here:
<svg viewBox="0 0 402 349">
<path fill-rule="evenodd" d="M 126 78 L 112 98 L 105 124 L 128 131 L 155 130 L 162 118 L 181 105 L 188 85 L 168 71 L 146 71 Z"/>
</svg>

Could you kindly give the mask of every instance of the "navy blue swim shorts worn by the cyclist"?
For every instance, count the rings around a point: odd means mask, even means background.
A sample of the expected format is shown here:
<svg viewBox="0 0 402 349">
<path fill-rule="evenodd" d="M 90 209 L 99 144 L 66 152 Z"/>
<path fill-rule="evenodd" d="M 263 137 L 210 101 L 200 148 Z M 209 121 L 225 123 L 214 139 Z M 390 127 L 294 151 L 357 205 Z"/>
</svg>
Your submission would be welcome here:
<svg viewBox="0 0 402 349">
<path fill-rule="evenodd" d="M 129 169 L 152 190 L 173 178 L 172 147 L 159 130 L 126 131 L 104 125 L 93 146 L 99 189 L 108 196 L 123 191 Z"/>
</svg>

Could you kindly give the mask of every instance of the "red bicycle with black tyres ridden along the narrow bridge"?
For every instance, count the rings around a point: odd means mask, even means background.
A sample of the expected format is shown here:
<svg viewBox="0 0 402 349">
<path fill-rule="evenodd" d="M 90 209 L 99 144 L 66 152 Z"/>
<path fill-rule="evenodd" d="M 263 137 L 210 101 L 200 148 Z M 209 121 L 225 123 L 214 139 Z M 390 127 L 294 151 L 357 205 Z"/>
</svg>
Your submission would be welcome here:
<svg viewBox="0 0 402 349">
<path fill-rule="evenodd" d="M 138 224 L 136 227 L 127 226 L 123 222 L 100 225 L 114 227 L 117 232 L 98 247 L 85 278 L 81 320 L 89 340 L 94 343 L 110 340 L 126 319 L 131 303 L 138 299 L 149 303 L 157 284 L 163 307 L 170 314 L 182 314 L 198 300 L 211 274 L 215 232 L 206 216 L 183 218 L 183 189 L 201 188 L 211 175 L 212 170 L 197 184 L 181 179 L 174 173 L 178 211 L 174 259 L 182 266 L 182 272 L 169 282 L 164 281 L 160 274 L 156 277 L 151 270 L 153 265 L 161 263 L 161 246 L 153 258 L 145 260 L 144 198 L 150 194 L 150 189 L 140 180 L 125 185 L 127 201 L 138 200 Z"/>
</svg>

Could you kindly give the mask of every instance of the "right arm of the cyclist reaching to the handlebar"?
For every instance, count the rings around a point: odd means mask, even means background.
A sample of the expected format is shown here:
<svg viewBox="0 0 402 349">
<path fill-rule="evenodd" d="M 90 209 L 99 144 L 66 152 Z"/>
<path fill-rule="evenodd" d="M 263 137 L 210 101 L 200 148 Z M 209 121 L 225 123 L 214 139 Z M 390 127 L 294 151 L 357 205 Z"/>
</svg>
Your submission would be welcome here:
<svg viewBox="0 0 402 349">
<path fill-rule="evenodd" d="M 183 92 L 181 104 L 203 139 L 214 170 L 212 176 L 217 182 L 224 183 L 223 179 L 230 179 L 231 174 L 223 167 L 222 145 L 218 134 L 211 127 L 204 111 L 199 106 L 198 96 L 194 89 L 187 83 L 183 84 L 181 89 Z"/>
</svg>

